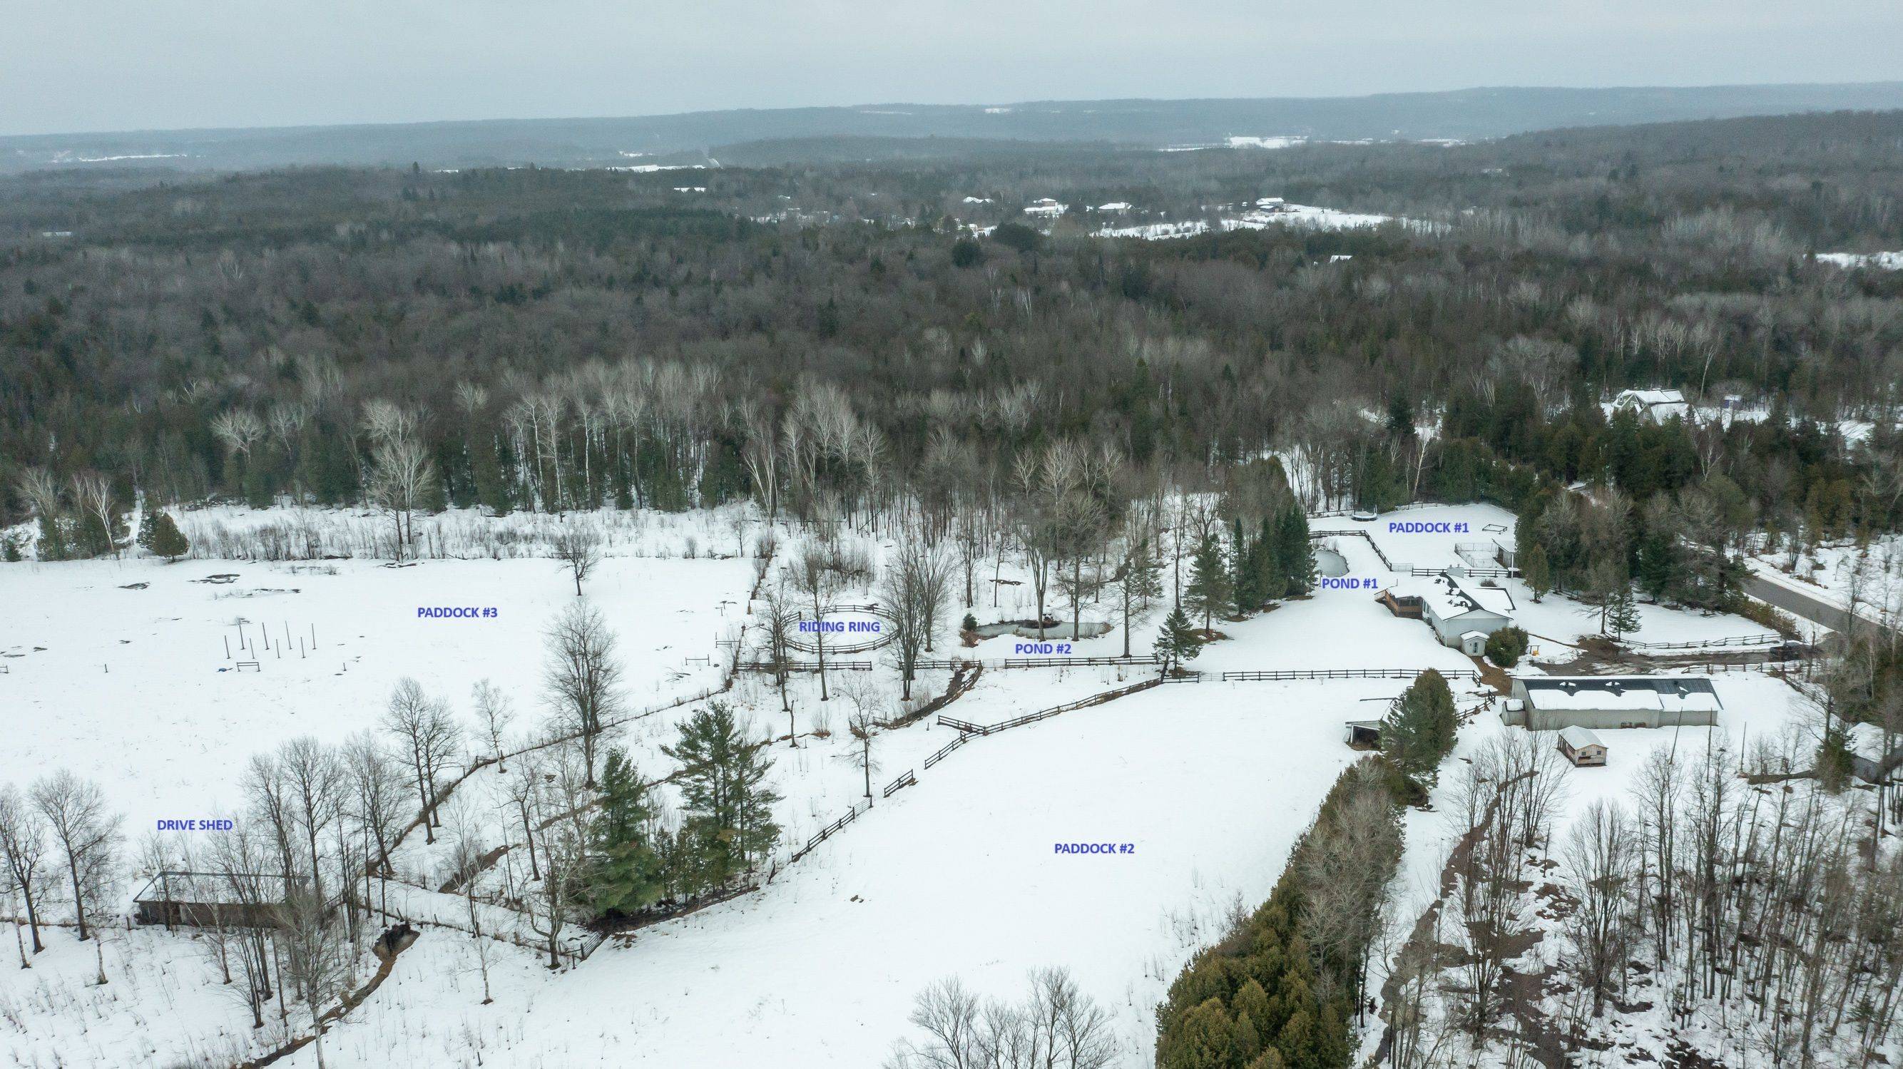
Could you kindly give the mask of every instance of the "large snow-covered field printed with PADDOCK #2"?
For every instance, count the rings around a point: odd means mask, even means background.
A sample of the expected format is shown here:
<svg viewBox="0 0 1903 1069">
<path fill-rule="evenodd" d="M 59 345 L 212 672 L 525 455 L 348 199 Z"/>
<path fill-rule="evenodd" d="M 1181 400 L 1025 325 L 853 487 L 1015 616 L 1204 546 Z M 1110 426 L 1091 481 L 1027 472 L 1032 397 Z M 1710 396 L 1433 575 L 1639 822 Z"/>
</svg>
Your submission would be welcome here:
<svg viewBox="0 0 1903 1069">
<path fill-rule="evenodd" d="M 993 687 L 959 709 L 1028 704 Z M 1167 983 L 1233 904 L 1267 896 L 1355 757 L 1342 721 L 1401 687 L 1172 685 L 972 740 L 759 894 L 558 976 L 508 972 L 491 1006 L 451 980 L 459 940 L 432 932 L 331 1035 L 329 1063 L 877 1065 L 929 982 L 1016 997 L 1028 968 L 1064 964 L 1115 1014 L 1119 1065 L 1146 1065 Z"/>
</svg>

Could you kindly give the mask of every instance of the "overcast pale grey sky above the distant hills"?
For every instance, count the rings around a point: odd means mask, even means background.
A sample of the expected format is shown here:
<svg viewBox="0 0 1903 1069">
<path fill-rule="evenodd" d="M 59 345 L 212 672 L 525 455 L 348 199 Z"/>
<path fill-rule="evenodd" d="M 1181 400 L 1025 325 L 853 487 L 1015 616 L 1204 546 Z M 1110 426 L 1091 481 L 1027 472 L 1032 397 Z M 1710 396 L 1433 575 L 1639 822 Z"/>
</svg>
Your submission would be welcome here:
<svg viewBox="0 0 1903 1069">
<path fill-rule="evenodd" d="M 1899 0 L 55 0 L 0 133 L 1903 80 Z"/>
</svg>

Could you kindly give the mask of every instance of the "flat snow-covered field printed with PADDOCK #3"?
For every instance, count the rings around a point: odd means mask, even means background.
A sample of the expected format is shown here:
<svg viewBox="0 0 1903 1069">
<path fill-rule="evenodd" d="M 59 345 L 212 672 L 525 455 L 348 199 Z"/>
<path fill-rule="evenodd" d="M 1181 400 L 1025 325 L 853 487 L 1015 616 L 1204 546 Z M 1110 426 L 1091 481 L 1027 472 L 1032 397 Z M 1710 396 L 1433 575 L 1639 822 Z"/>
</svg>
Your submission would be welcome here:
<svg viewBox="0 0 1903 1069">
<path fill-rule="evenodd" d="M 752 582 L 744 557 L 607 557 L 584 586 L 620 639 L 630 704 L 717 685 L 716 639 L 744 616 Z M 491 679 L 529 727 L 542 715 L 542 632 L 575 601 L 548 559 L 17 563 L 0 565 L 0 782 L 72 768 L 107 789 L 133 833 L 236 808 L 245 761 L 287 738 L 339 742 L 377 727 L 403 675 L 462 717 L 470 687 Z M 419 618 L 419 607 L 495 616 Z M 274 647 L 289 633 L 282 654 L 261 647 L 263 632 Z M 240 671 L 242 660 L 257 671 Z"/>
</svg>

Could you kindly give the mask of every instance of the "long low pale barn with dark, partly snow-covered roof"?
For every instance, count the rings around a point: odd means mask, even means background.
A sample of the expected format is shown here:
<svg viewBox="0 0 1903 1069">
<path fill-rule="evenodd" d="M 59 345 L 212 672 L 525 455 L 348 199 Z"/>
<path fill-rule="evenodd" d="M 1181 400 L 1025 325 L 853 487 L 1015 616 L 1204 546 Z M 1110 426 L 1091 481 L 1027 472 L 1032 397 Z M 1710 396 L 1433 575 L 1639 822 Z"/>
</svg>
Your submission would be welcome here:
<svg viewBox="0 0 1903 1069">
<path fill-rule="evenodd" d="M 1722 708 L 1696 675 L 1515 675 L 1501 719 L 1528 730 L 1711 727 Z"/>
</svg>

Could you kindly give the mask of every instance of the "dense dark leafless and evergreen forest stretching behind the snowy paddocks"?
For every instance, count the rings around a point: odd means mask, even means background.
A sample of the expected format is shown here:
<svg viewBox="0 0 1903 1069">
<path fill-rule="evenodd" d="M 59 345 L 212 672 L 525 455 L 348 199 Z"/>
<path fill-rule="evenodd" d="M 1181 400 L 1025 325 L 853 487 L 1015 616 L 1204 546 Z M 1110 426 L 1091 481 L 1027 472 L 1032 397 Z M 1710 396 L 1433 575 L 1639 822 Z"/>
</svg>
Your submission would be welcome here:
<svg viewBox="0 0 1903 1069">
<path fill-rule="evenodd" d="M 1886 531 L 1903 272 L 1810 253 L 1903 245 L 1899 146 L 1903 114 L 1838 112 L 1456 146 L 29 175 L 0 186 L 0 523 L 110 512 L 88 496 L 360 502 L 424 466 L 405 510 L 805 514 L 986 496 L 1075 437 L 1176 485 L 1275 453 L 1309 506 L 1600 485 L 1633 573 L 1648 523 Z M 1041 196 L 1073 207 L 1026 226 Z M 1144 242 L 1085 209 L 1258 196 L 1404 221 Z M 1608 418 L 1627 386 L 1768 415 Z"/>
</svg>

